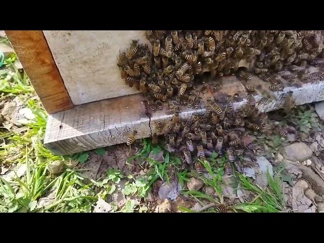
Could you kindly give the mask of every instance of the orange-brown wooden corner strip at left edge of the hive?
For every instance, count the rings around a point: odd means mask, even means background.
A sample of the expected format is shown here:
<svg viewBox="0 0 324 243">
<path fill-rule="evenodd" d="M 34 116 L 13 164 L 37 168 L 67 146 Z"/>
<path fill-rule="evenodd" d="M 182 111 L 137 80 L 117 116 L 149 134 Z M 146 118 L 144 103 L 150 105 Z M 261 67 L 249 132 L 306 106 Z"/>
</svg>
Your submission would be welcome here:
<svg viewBox="0 0 324 243">
<path fill-rule="evenodd" d="M 48 113 L 73 107 L 42 30 L 6 30 L 19 61 Z"/>
</svg>

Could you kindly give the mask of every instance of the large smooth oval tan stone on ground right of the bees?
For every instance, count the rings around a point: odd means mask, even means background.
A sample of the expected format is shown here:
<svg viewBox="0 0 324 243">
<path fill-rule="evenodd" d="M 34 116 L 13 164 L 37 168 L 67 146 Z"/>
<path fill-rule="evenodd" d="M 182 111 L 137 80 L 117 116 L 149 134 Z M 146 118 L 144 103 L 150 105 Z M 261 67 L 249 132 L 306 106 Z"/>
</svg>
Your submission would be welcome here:
<svg viewBox="0 0 324 243">
<path fill-rule="evenodd" d="M 285 159 L 291 161 L 304 161 L 309 159 L 313 151 L 303 142 L 293 143 L 282 149 L 282 155 Z"/>
</svg>

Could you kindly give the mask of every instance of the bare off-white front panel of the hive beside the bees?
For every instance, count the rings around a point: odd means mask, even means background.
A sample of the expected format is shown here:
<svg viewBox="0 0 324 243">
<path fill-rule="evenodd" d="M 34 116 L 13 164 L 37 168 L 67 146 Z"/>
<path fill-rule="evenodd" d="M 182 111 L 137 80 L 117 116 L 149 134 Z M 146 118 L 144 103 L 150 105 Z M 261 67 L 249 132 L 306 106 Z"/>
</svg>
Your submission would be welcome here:
<svg viewBox="0 0 324 243">
<path fill-rule="evenodd" d="M 120 78 L 117 58 L 119 50 L 130 48 L 132 39 L 151 46 L 144 33 L 144 30 L 44 31 L 74 105 L 139 93 Z"/>
</svg>

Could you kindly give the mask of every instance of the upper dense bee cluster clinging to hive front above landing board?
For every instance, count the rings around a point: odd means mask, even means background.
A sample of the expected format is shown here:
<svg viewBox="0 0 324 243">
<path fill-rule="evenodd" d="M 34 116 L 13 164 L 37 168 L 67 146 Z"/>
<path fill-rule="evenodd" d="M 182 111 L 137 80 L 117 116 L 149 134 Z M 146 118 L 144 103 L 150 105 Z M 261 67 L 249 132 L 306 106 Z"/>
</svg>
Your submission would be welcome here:
<svg viewBox="0 0 324 243">
<path fill-rule="evenodd" d="M 296 86 L 302 85 L 299 79 L 324 76 L 306 68 L 307 62 L 324 66 L 322 59 L 316 59 L 323 55 L 321 31 L 147 30 L 145 34 L 152 52 L 133 40 L 120 54 L 118 66 L 125 83 L 150 97 L 151 103 L 176 96 L 188 100 L 195 76 L 205 72 L 211 77 L 237 74 L 246 81 L 253 72 L 271 82 L 273 91 L 283 89 L 282 76 Z M 277 74 L 280 71 L 282 75 Z"/>
</svg>

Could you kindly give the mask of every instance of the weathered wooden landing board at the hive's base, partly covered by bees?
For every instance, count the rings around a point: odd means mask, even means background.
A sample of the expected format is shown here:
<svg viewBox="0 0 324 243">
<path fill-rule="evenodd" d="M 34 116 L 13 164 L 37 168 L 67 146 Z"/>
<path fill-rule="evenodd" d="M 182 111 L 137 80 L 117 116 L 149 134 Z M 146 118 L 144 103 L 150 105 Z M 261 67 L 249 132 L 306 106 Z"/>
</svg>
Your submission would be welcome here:
<svg viewBox="0 0 324 243">
<path fill-rule="evenodd" d="M 222 92 L 224 94 L 241 94 L 241 100 L 234 103 L 234 109 L 246 104 L 247 93 L 244 91 L 242 83 L 235 76 L 223 79 Z M 216 82 L 210 82 L 211 89 L 206 96 L 214 96 L 219 99 L 221 95 L 212 90 L 214 83 Z M 277 100 L 266 103 L 258 104 L 262 97 L 256 95 L 258 108 L 262 112 L 267 112 L 282 107 L 282 97 L 288 91 L 293 91 L 297 105 L 324 100 L 324 81 L 305 84 L 302 88 L 285 88 L 284 91 L 274 93 Z M 206 97 L 204 100 L 206 101 Z M 64 155 L 125 143 L 129 132 L 133 130 L 139 132 L 136 136 L 137 139 L 150 137 L 152 133 L 156 132 L 154 126 L 156 121 L 171 120 L 172 115 L 165 113 L 166 106 L 167 104 L 164 104 L 163 110 L 152 113 L 149 119 L 145 114 L 145 105 L 141 103 L 140 94 L 78 105 L 73 109 L 49 116 L 44 143 L 54 153 Z M 185 119 L 196 112 L 203 113 L 205 108 L 202 107 L 205 105 L 201 105 L 198 109 L 185 107 L 182 109 L 180 117 Z"/>
</svg>

